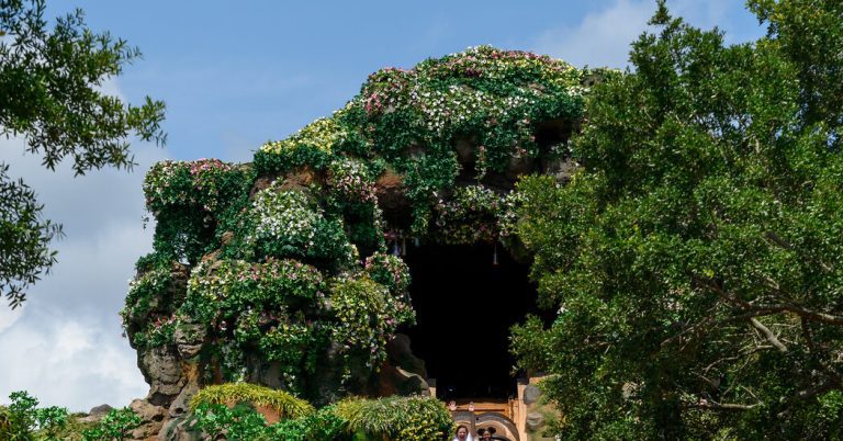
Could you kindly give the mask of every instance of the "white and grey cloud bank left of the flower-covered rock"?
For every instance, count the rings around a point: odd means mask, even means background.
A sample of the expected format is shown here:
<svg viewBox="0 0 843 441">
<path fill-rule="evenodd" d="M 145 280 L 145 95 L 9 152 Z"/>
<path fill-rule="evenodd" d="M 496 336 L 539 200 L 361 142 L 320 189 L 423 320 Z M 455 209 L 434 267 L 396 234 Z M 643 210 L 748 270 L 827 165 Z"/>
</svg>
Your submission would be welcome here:
<svg viewBox="0 0 843 441">
<path fill-rule="evenodd" d="M 121 337 L 117 312 L 135 260 L 153 242 L 151 226 L 142 224 L 143 177 L 166 151 L 136 144 L 133 172 L 74 178 L 68 166 L 50 172 L 36 156 L 20 155 L 20 139 L 0 140 L 0 150 L 9 174 L 23 177 L 45 205 L 44 216 L 66 233 L 53 244 L 58 263 L 27 291 L 22 310 L 0 305 L 0 403 L 20 389 L 71 410 L 125 406 L 145 396 L 148 386 Z"/>
</svg>

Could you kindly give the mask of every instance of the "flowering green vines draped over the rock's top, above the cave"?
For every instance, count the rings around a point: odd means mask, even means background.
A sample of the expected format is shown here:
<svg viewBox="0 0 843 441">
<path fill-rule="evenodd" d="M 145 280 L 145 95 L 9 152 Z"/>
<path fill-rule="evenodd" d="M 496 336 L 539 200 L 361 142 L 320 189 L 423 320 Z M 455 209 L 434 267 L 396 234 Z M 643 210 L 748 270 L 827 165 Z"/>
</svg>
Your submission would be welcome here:
<svg viewBox="0 0 843 441">
<path fill-rule="evenodd" d="M 581 83 L 589 75 L 549 57 L 488 46 L 428 59 L 411 70 L 382 69 L 333 117 L 263 145 L 255 167 L 261 174 L 327 169 L 334 181 L 345 180 L 341 188 L 334 185 L 340 194 L 368 201 L 374 177 L 345 157 L 383 158 L 404 174 L 414 204 L 413 233 L 424 235 L 437 194 L 460 172 L 456 143 L 476 138 L 477 180 L 510 160 L 537 158 L 535 122 L 578 118 Z"/>
</svg>

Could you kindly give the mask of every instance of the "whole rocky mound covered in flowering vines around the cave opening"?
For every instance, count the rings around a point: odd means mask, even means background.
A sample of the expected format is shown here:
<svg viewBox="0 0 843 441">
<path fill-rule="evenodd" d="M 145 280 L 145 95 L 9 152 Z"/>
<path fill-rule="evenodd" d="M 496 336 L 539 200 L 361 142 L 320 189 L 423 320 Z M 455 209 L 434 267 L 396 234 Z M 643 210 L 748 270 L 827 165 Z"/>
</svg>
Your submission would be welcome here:
<svg viewBox="0 0 843 441">
<path fill-rule="evenodd" d="M 510 192 L 525 174 L 570 177 L 560 146 L 584 77 L 472 48 L 373 74 L 333 117 L 250 165 L 156 165 L 144 183 L 155 251 L 121 313 L 150 385 L 133 404 L 148 420 L 138 436 L 180 433 L 206 384 L 245 380 L 316 405 L 426 393 L 424 361 L 396 335 L 414 320 L 398 251 L 414 238 L 502 241 L 528 259 L 504 233 Z"/>
</svg>

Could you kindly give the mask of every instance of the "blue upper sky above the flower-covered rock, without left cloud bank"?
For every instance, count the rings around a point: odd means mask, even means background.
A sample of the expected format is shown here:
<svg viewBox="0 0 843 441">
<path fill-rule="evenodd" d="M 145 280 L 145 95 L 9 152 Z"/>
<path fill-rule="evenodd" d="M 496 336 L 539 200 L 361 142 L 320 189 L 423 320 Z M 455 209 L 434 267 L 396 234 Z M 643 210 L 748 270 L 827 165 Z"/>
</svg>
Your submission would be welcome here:
<svg viewBox="0 0 843 441">
<path fill-rule="evenodd" d="M 150 94 L 167 102 L 168 151 L 177 159 L 247 160 L 267 139 L 340 108 L 369 74 L 468 46 L 491 44 L 550 53 L 575 65 L 617 66 L 654 1 L 229 4 L 79 3 L 91 27 L 111 30 L 144 52 L 144 60 L 119 83 L 130 99 Z M 700 25 L 716 22 L 745 39 L 757 26 L 740 4 L 684 1 L 676 9 Z"/>
</svg>

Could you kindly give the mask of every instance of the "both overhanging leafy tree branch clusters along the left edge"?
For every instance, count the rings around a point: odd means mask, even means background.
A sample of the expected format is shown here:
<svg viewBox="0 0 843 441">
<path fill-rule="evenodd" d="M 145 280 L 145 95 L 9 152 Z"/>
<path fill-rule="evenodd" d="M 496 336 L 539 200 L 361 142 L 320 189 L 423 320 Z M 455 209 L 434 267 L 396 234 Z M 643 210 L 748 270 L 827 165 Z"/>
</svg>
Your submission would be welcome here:
<svg viewBox="0 0 843 441">
<path fill-rule="evenodd" d="M 131 168 L 128 137 L 166 142 L 164 103 L 140 106 L 101 90 L 140 56 L 136 47 L 91 32 L 82 11 L 47 27 L 45 1 L 0 0 L 0 134 L 21 136 L 26 150 L 53 170 L 69 158 L 77 176 Z M 56 261 L 49 241 L 60 226 L 43 219 L 35 194 L 0 162 L 0 293 L 12 308 Z"/>
</svg>

